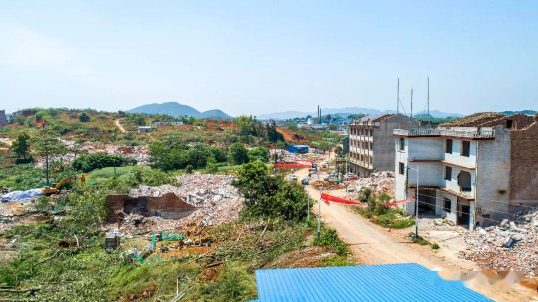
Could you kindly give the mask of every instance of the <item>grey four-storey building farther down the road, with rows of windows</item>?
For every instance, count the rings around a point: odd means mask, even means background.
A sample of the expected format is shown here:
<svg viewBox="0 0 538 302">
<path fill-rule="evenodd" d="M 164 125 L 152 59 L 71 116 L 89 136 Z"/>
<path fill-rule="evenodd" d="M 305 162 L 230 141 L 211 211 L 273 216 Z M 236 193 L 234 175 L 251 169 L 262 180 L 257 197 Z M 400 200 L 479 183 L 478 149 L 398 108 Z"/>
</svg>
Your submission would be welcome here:
<svg viewBox="0 0 538 302">
<path fill-rule="evenodd" d="M 366 116 L 349 125 L 348 171 L 370 176 L 374 170 L 394 169 L 394 129 L 418 127 L 419 123 L 404 114 Z"/>
</svg>

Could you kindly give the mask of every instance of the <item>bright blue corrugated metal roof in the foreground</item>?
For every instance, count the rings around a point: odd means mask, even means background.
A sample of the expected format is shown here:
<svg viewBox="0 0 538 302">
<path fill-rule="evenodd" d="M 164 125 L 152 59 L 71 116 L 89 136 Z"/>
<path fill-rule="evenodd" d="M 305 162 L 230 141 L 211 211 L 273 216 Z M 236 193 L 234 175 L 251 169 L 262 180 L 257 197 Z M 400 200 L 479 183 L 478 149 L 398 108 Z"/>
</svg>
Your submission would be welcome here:
<svg viewBox="0 0 538 302">
<path fill-rule="evenodd" d="M 493 300 L 417 263 L 257 270 L 259 302 Z"/>
</svg>

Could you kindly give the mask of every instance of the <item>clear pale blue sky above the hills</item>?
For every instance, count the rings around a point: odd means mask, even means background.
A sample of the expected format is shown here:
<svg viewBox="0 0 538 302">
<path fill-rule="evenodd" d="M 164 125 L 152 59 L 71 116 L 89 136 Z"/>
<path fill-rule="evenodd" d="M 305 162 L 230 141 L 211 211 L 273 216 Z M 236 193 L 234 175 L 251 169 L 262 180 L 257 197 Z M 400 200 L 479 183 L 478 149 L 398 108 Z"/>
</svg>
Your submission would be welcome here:
<svg viewBox="0 0 538 302">
<path fill-rule="evenodd" d="M 538 109 L 538 2 L 3 1 L 0 109 Z"/>
</svg>

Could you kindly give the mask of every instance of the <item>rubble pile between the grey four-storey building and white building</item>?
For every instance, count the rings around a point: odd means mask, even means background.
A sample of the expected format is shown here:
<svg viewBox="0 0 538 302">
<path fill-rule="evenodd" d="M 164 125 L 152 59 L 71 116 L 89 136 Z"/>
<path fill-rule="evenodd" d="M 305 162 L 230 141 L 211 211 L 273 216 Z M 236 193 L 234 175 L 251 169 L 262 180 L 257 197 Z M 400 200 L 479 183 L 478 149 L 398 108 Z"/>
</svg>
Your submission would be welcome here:
<svg viewBox="0 0 538 302">
<path fill-rule="evenodd" d="M 356 198 L 360 189 L 370 188 L 373 194 L 386 193 L 394 197 L 394 172 L 378 171 L 373 172 L 370 177 L 359 177 L 348 183 L 348 198 Z"/>
</svg>

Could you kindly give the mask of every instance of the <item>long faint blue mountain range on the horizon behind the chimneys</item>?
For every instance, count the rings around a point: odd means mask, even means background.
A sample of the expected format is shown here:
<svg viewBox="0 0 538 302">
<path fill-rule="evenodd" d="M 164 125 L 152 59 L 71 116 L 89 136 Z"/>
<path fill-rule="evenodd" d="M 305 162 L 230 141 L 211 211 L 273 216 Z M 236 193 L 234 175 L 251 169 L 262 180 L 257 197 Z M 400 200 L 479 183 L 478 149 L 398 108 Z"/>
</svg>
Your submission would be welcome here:
<svg viewBox="0 0 538 302">
<path fill-rule="evenodd" d="M 331 115 L 340 115 L 340 116 L 349 116 L 350 114 L 388 114 L 388 113 L 396 113 L 396 110 L 377 110 L 377 109 L 370 109 L 370 108 L 362 108 L 362 107 L 345 107 L 345 108 L 325 108 L 321 110 L 321 114 L 324 116 L 325 114 L 331 114 Z M 400 111 L 400 113 L 404 113 Z M 425 114 L 426 111 L 419 111 L 419 112 L 413 112 L 413 116 L 415 114 Z M 283 111 L 283 112 L 274 112 L 270 114 L 260 114 L 257 116 L 258 119 L 292 119 L 292 118 L 303 118 L 306 116 L 317 116 L 317 113 L 315 112 L 300 112 L 300 111 Z M 435 118 L 447 118 L 447 117 L 453 117 L 453 118 L 459 118 L 463 117 L 463 114 L 459 113 L 448 113 L 448 112 L 442 112 L 438 110 L 430 110 L 430 116 Z"/>
</svg>

